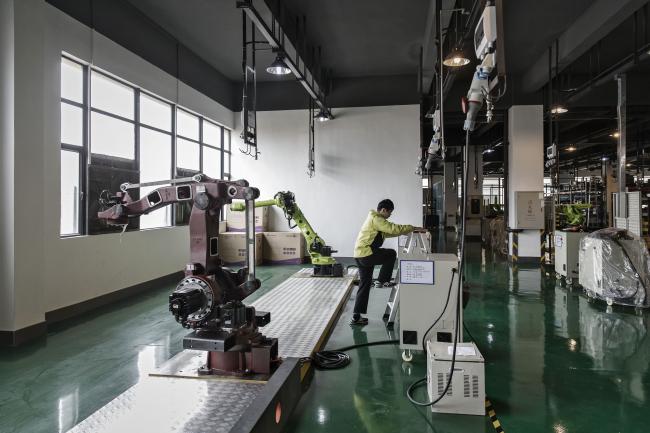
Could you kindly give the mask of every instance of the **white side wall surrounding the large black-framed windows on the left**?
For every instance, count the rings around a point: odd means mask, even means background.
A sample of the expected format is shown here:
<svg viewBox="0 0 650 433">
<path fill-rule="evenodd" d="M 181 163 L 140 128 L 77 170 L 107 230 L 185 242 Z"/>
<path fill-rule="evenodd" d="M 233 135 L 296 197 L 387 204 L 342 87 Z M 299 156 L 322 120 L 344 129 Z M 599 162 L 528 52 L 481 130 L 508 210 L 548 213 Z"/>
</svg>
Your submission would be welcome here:
<svg viewBox="0 0 650 433">
<path fill-rule="evenodd" d="M 0 47 L 0 330 L 181 270 L 189 256 L 187 227 L 59 237 L 61 52 L 226 127 L 233 127 L 234 113 L 44 0 L 0 0 Z"/>
</svg>

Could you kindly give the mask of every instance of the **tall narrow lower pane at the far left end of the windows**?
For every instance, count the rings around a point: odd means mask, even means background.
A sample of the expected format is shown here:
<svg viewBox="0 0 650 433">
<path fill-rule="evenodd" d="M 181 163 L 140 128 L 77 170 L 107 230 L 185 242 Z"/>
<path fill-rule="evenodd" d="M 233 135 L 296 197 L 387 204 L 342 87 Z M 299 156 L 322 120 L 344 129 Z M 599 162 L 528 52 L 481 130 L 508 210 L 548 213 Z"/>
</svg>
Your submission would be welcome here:
<svg viewBox="0 0 650 433">
<path fill-rule="evenodd" d="M 61 235 L 79 233 L 79 153 L 61 151 Z"/>
</svg>

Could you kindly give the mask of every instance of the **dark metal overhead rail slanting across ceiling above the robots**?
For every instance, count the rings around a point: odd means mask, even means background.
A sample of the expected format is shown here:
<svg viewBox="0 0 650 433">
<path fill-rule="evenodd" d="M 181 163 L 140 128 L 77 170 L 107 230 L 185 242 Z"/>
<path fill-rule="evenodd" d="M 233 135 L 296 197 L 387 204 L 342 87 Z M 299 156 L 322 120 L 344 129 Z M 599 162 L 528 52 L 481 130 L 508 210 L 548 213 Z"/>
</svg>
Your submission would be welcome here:
<svg viewBox="0 0 650 433">
<path fill-rule="evenodd" d="M 248 18 L 253 22 L 253 24 L 255 24 L 257 30 L 262 34 L 264 39 L 266 39 L 272 49 L 282 51 L 282 53 L 285 55 L 284 62 L 289 67 L 289 69 L 291 69 L 291 72 L 293 72 L 293 75 L 300 82 L 300 84 L 302 84 L 302 87 L 305 88 L 309 96 L 312 97 L 314 102 L 316 102 L 316 104 L 324 112 L 328 112 L 327 105 L 325 104 L 325 95 L 323 94 L 322 86 L 314 78 L 314 72 L 307 68 L 307 64 L 301 60 L 296 48 L 292 46 L 293 50 L 296 53 L 296 58 L 294 60 L 287 52 L 288 50 L 286 47 L 283 46 L 283 44 L 280 42 L 279 36 L 276 35 L 275 32 L 269 28 L 268 24 L 264 21 L 264 18 L 262 18 L 257 8 L 253 5 L 252 0 L 238 0 L 237 8 L 242 9 L 246 13 Z M 272 12 L 271 19 L 276 23 L 274 27 L 280 28 L 279 20 L 273 16 Z M 286 45 L 286 41 L 284 45 Z M 300 70 L 300 63 L 304 65 L 304 72 Z"/>
</svg>

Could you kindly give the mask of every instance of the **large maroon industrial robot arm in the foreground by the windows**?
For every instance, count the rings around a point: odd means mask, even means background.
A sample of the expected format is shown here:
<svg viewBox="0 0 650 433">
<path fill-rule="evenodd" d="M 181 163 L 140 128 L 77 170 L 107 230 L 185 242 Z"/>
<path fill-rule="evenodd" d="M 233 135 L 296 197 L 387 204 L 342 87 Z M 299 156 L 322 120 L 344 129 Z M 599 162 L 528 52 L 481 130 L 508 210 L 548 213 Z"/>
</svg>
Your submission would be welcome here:
<svg viewBox="0 0 650 433">
<path fill-rule="evenodd" d="M 98 218 L 123 225 L 128 218 L 173 203 L 191 203 L 190 263 L 185 278 L 169 295 L 169 311 L 176 321 L 194 330 L 183 339 L 183 347 L 208 352 L 207 363 L 200 369 L 205 374 L 267 374 L 277 363 L 277 339 L 264 337 L 258 327 L 270 322 L 270 314 L 242 302 L 260 287 L 255 278 L 253 241 L 259 190 L 245 180 L 231 182 L 203 175 L 158 183 L 172 186 L 151 191 L 140 200 L 133 200 L 128 191 L 151 184 L 123 184 L 114 195 L 102 194 L 102 205 L 110 207 L 99 212 Z M 233 199 L 244 200 L 247 213 L 247 266 L 238 272 L 223 268 L 219 257 L 219 217 L 222 207 Z"/>
</svg>

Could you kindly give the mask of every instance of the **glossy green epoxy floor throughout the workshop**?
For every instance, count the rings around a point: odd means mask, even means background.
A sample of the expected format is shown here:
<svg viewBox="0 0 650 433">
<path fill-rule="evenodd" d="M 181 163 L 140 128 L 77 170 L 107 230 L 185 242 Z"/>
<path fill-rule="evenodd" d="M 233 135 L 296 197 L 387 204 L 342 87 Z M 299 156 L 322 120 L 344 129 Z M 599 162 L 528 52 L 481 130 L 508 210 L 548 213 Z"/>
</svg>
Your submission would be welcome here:
<svg viewBox="0 0 650 433">
<path fill-rule="evenodd" d="M 650 431 L 648 312 L 608 310 L 539 268 L 513 269 L 477 243 L 468 250 L 465 323 L 487 360 L 486 391 L 506 432 Z M 259 268 L 261 290 L 297 269 Z M 57 325 L 28 346 L 1 348 L 0 432 L 66 431 L 181 350 L 187 330 L 167 311 L 171 289 Z M 370 324 L 360 329 L 347 324 L 348 302 L 328 348 L 394 337 L 381 321 L 388 294 L 373 292 Z M 405 364 L 396 346 L 350 354 L 348 368 L 315 372 L 288 431 L 494 431 L 485 417 L 432 416 L 410 405 L 404 392 L 424 375 L 422 355 Z"/>
</svg>

